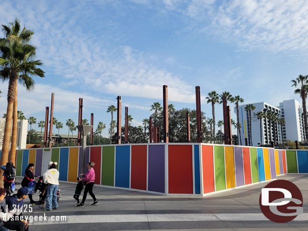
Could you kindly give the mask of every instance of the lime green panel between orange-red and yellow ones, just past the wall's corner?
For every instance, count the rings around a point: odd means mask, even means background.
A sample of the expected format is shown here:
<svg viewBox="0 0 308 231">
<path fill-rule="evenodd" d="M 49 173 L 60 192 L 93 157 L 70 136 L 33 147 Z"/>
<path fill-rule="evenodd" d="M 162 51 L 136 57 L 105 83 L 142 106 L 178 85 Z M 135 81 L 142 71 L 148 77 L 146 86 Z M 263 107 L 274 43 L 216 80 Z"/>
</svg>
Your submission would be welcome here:
<svg viewBox="0 0 308 231">
<path fill-rule="evenodd" d="M 224 147 L 214 147 L 216 191 L 226 189 Z"/>
</svg>

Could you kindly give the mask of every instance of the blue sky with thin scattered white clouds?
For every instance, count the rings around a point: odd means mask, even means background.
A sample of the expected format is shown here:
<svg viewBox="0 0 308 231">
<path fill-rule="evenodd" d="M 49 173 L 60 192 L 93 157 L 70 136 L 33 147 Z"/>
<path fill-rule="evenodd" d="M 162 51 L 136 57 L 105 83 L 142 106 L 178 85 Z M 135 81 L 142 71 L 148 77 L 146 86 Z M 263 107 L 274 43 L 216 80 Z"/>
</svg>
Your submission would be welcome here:
<svg viewBox="0 0 308 231">
<path fill-rule="evenodd" d="M 195 109 L 200 86 L 201 110 L 210 118 L 205 98 L 214 90 L 240 95 L 245 104 L 301 103 L 290 81 L 308 74 L 306 12 L 305 0 L 2 0 L 0 24 L 17 17 L 33 30 L 31 43 L 43 62 L 45 78 L 34 77 L 33 92 L 18 86 L 18 109 L 44 121 L 54 92 L 54 117 L 64 124 L 60 134 L 67 134 L 66 120 L 78 124 L 83 98 L 83 119 L 94 113 L 94 129 L 105 123 L 107 137 L 107 108 L 117 105 L 118 95 L 122 124 L 128 106 L 132 125 L 142 126 L 150 105 L 163 105 L 163 85 L 176 109 Z M 1 115 L 7 88 L 0 83 Z M 216 120 L 222 119 L 216 104 Z"/>
</svg>

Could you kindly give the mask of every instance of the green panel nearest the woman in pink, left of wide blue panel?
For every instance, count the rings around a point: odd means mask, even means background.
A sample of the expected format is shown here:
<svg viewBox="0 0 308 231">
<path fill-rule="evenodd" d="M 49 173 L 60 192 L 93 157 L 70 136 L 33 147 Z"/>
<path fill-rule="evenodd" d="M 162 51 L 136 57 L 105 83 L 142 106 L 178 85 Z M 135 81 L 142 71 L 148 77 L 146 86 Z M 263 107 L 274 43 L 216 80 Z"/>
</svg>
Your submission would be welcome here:
<svg viewBox="0 0 308 231">
<path fill-rule="evenodd" d="M 102 147 L 101 184 L 114 186 L 115 147 Z"/>
</svg>

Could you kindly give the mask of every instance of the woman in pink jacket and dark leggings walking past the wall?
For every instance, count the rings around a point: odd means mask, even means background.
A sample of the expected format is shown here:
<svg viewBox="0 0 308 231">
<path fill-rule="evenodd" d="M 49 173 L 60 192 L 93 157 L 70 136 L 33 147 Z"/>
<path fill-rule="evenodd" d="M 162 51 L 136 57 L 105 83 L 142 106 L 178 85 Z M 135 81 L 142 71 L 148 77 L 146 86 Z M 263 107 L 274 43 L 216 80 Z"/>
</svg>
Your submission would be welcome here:
<svg viewBox="0 0 308 231">
<path fill-rule="evenodd" d="M 91 197 L 93 198 L 93 203 L 91 205 L 96 205 L 98 204 L 98 201 L 95 198 L 95 195 L 93 194 L 92 190 L 93 190 L 93 185 L 94 185 L 94 180 L 95 180 L 95 172 L 94 172 L 94 167 L 95 163 L 93 162 L 89 162 L 88 163 L 88 172 L 87 174 L 80 174 L 80 177 L 83 177 L 82 179 L 79 179 L 79 181 L 84 181 L 86 182 L 85 188 L 84 188 L 84 192 L 83 192 L 83 198 L 80 204 L 77 205 L 77 207 L 81 207 L 84 206 L 84 202 L 85 199 L 87 198 L 87 194 L 89 192 L 89 194 L 91 195 Z"/>
</svg>

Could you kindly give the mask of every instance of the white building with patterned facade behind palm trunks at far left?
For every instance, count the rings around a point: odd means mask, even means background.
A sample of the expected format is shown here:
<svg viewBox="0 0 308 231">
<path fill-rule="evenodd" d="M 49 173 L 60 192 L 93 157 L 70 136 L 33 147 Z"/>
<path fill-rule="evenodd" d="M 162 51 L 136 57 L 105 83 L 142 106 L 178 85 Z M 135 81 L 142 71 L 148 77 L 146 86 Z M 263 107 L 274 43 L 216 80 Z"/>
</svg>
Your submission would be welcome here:
<svg viewBox="0 0 308 231">
<path fill-rule="evenodd" d="M 2 146 L 3 146 L 5 125 L 6 125 L 6 118 L 0 118 L 0 149 L 2 149 Z M 18 120 L 17 121 L 16 149 L 26 148 L 27 130 L 28 130 L 28 120 Z M 11 137 L 12 137 L 12 133 L 11 133 Z"/>
</svg>

